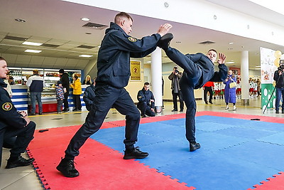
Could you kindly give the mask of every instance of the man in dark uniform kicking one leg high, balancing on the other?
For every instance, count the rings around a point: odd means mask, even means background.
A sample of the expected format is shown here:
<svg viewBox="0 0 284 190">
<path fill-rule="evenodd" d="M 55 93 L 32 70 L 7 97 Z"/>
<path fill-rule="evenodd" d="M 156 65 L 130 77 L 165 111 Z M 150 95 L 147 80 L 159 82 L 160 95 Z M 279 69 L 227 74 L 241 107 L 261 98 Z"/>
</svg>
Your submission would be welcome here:
<svg viewBox="0 0 284 190">
<path fill-rule="evenodd" d="M 173 34 L 166 34 L 158 41 L 158 46 L 163 48 L 170 60 L 173 60 L 173 62 L 184 69 L 182 78 L 180 79 L 180 89 L 185 105 L 187 106 L 185 136 L 190 142 L 190 151 L 192 152 L 200 148 L 200 144 L 195 141 L 196 102 L 194 90 L 202 88 L 207 81 L 222 82 L 226 79 L 228 72 L 228 68 L 224 65 L 226 56 L 223 53 L 219 53 L 217 61 L 219 63 L 219 72 L 214 72 L 217 51 L 211 49 L 207 52 L 206 56 L 202 53 L 184 55 L 175 48 L 169 47 L 171 39 L 173 39 Z"/>
</svg>

